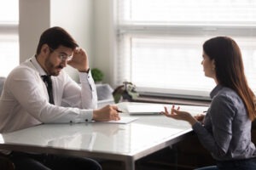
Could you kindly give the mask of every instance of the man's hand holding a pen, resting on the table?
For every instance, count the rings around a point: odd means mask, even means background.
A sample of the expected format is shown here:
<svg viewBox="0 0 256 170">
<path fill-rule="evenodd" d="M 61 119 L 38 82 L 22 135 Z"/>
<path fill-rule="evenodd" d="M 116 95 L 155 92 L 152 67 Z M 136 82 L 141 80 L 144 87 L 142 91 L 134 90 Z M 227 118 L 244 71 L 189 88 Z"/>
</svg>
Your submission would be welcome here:
<svg viewBox="0 0 256 170">
<path fill-rule="evenodd" d="M 101 109 L 93 111 L 93 120 L 99 122 L 119 121 L 119 111 L 116 105 L 106 105 Z"/>
</svg>

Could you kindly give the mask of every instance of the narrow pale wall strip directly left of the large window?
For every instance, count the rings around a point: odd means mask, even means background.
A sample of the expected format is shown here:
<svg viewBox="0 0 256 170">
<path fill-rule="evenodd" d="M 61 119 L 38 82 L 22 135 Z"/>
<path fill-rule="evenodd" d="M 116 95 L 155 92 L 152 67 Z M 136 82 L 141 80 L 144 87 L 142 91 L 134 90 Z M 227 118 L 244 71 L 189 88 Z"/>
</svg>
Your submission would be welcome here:
<svg viewBox="0 0 256 170">
<path fill-rule="evenodd" d="M 113 0 L 94 0 L 94 67 L 104 72 L 103 82 L 113 84 Z"/>
</svg>

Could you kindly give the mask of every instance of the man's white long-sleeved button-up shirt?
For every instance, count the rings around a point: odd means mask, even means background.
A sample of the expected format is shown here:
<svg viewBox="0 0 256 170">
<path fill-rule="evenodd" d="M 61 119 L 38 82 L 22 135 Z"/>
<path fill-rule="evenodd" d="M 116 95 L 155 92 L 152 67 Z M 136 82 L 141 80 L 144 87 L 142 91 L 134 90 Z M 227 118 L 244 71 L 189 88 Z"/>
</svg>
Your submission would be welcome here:
<svg viewBox="0 0 256 170">
<path fill-rule="evenodd" d="M 7 77 L 0 99 L 0 133 L 41 123 L 90 122 L 97 107 L 96 86 L 91 73 L 79 72 L 81 85 L 65 71 L 51 77 L 55 105 L 49 104 L 46 75 L 33 56 Z"/>
</svg>

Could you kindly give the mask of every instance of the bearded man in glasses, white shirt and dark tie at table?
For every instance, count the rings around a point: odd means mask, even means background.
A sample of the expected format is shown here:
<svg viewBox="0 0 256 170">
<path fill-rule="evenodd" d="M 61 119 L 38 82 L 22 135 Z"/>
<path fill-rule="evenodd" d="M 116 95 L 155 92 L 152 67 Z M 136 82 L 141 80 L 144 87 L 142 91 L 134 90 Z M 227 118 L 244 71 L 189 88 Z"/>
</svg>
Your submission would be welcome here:
<svg viewBox="0 0 256 170">
<path fill-rule="evenodd" d="M 81 86 L 62 70 L 67 65 L 79 71 Z M 119 120 L 115 105 L 96 109 L 96 102 L 96 87 L 84 49 L 67 31 L 52 27 L 41 35 L 35 56 L 6 79 L 0 99 L 0 133 L 41 123 Z M 96 161 L 85 158 L 4 153 L 16 169 L 101 169 Z"/>
</svg>

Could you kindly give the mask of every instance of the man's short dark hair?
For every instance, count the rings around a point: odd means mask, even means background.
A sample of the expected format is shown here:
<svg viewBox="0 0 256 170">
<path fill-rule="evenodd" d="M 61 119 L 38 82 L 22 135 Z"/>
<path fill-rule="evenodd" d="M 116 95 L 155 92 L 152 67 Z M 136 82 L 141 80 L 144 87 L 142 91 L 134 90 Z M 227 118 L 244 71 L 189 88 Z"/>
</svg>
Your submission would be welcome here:
<svg viewBox="0 0 256 170">
<path fill-rule="evenodd" d="M 61 45 L 73 49 L 79 47 L 73 37 L 59 26 L 51 27 L 42 33 L 38 42 L 37 54 L 40 53 L 44 44 L 48 44 L 52 49 L 56 49 Z"/>
</svg>

